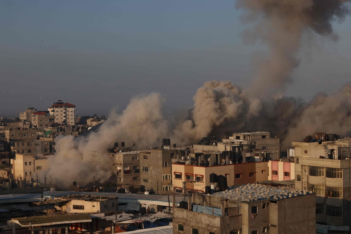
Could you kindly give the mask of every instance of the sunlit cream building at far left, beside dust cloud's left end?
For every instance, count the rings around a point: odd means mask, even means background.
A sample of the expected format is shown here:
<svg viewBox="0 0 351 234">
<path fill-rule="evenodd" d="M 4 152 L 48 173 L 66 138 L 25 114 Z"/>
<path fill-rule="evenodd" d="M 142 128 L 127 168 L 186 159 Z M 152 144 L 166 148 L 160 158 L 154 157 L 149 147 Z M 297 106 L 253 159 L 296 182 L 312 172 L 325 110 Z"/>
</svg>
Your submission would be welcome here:
<svg viewBox="0 0 351 234">
<path fill-rule="evenodd" d="M 31 181 L 36 173 L 47 169 L 47 156 L 34 156 L 31 153 L 16 153 L 16 157 L 11 159 L 11 173 L 13 179 L 25 178 Z"/>
</svg>

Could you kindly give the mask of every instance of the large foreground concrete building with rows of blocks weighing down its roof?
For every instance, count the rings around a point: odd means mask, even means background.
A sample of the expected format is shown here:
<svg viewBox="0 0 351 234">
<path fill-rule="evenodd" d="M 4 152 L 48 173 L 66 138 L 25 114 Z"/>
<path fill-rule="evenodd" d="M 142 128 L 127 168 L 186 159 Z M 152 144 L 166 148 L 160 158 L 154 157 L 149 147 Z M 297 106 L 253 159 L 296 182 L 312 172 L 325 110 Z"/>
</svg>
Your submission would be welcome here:
<svg viewBox="0 0 351 234">
<path fill-rule="evenodd" d="M 173 233 L 315 234 L 315 201 L 314 193 L 256 183 L 192 194 L 172 209 Z"/>
</svg>

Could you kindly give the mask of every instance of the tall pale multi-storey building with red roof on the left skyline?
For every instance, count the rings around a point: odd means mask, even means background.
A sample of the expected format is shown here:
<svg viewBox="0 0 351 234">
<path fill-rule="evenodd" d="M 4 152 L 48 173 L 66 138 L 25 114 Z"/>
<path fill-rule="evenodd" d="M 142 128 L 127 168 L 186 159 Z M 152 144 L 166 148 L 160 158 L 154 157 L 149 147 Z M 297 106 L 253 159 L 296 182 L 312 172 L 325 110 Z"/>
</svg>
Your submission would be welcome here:
<svg viewBox="0 0 351 234">
<path fill-rule="evenodd" d="M 48 108 L 48 111 L 55 118 L 55 123 L 63 125 L 75 124 L 75 105 L 71 103 L 64 103 L 62 100 L 58 100 Z"/>
</svg>

